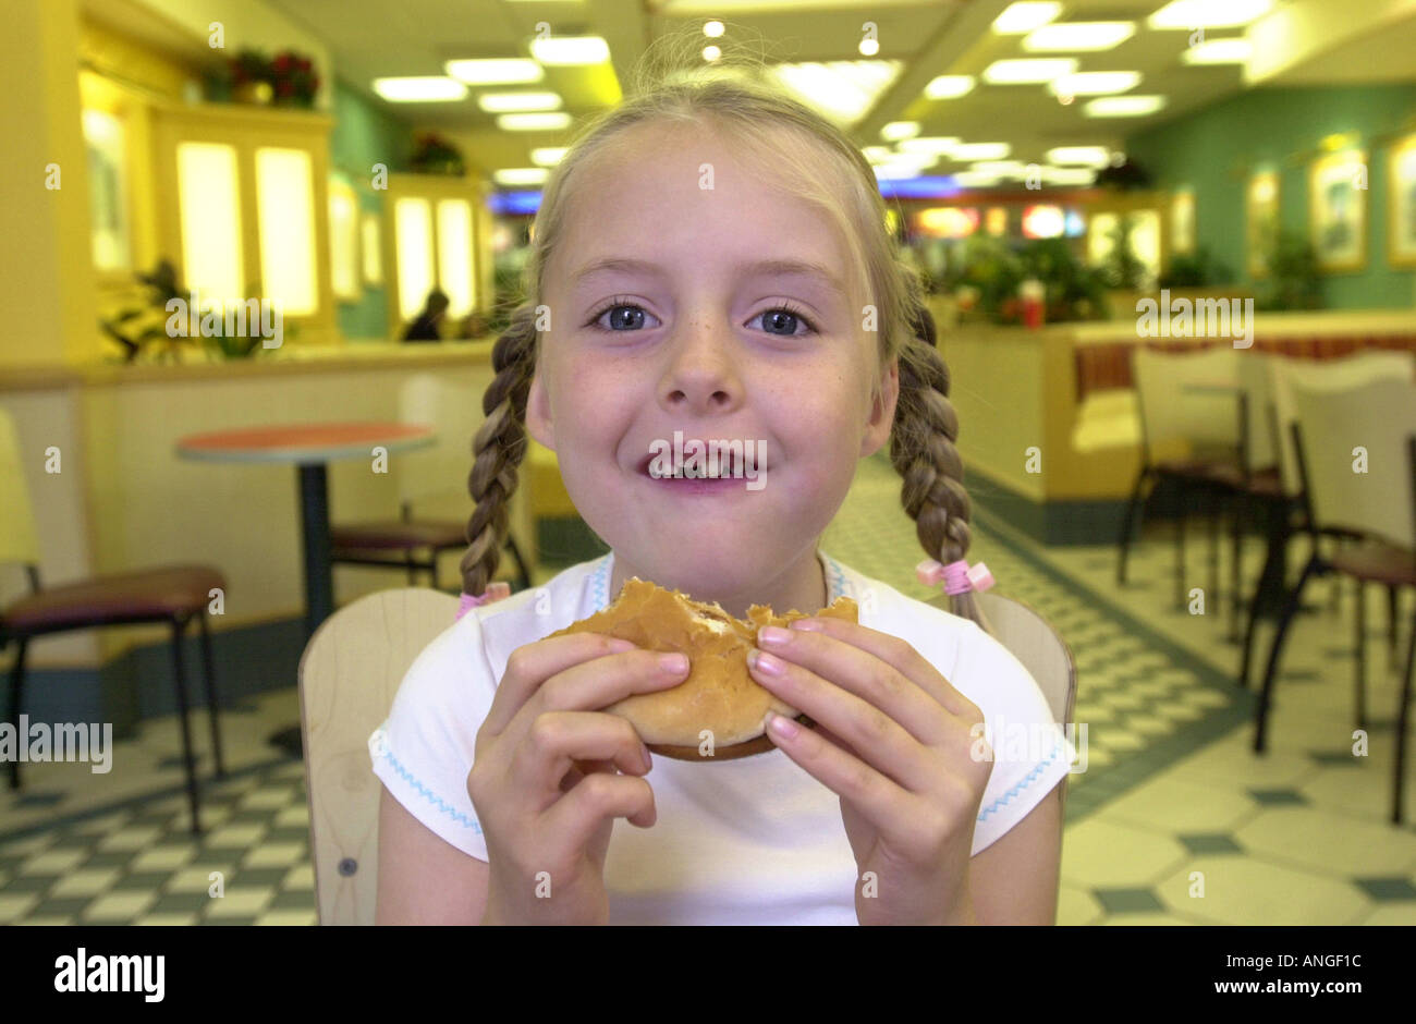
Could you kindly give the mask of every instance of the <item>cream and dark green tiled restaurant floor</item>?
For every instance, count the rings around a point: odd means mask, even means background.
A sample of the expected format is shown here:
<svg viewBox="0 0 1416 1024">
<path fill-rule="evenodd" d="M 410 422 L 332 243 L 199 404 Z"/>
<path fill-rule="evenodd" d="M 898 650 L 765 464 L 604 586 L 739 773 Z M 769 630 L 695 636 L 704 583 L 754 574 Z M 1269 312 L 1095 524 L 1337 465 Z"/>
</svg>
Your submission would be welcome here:
<svg viewBox="0 0 1416 1024">
<path fill-rule="evenodd" d="M 912 576 L 923 552 L 899 480 L 879 460 L 861 465 L 823 547 L 929 596 Z M 1249 581 L 1259 548 L 1246 550 Z M 1187 582 L 1204 585 L 1198 530 L 1189 554 Z M 1368 755 L 1352 756 L 1354 605 L 1345 595 L 1331 612 L 1320 585 L 1310 601 L 1321 612 L 1300 616 L 1290 639 L 1269 752 L 1255 756 L 1253 694 L 1233 684 L 1228 618 L 1211 595 L 1208 615 L 1168 606 L 1164 527 L 1137 545 L 1138 582 L 1124 592 L 1110 545 L 1044 551 L 983 507 L 970 557 L 990 565 L 1001 592 L 1056 623 L 1078 661 L 1089 765 L 1070 776 L 1059 923 L 1416 923 L 1416 824 L 1386 820 L 1398 677 L 1385 657 L 1383 595 L 1368 598 Z M 1405 644 L 1409 596 L 1400 612 Z M 313 923 L 303 770 L 265 745 L 296 714 L 293 690 L 228 712 L 231 772 L 204 789 L 201 841 L 185 831 L 171 721 L 118 745 L 123 772 L 30 766 L 24 802 L 0 795 L 0 922 Z M 212 872 L 219 899 L 208 895 Z"/>
</svg>

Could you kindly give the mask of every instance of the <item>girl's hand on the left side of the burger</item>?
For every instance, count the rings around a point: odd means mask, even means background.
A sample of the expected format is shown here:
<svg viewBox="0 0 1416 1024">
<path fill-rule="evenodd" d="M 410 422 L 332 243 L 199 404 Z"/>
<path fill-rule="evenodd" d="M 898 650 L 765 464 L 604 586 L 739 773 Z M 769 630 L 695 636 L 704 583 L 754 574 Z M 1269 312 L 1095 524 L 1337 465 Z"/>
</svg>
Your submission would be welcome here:
<svg viewBox="0 0 1416 1024">
<path fill-rule="evenodd" d="M 683 659 L 683 656 L 678 656 Z M 654 824 L 649 749 L 626 719 L 598 711 L 688 674 L 663 654 L 602 633 L 511 652 L 467 773 L 487 838 L 483 923 L 605 923 L 605 855 L 616 817 Z M 623 775 L 616 773 L 623 772 Z"/>
</svg>

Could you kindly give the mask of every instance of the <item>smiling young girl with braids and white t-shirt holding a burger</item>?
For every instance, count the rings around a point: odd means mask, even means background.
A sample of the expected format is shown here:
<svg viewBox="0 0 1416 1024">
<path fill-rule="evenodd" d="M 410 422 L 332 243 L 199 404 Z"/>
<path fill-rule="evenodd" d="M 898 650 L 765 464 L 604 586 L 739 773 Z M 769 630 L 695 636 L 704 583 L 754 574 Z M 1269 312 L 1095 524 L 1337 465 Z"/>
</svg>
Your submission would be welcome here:
<svg viewBox="0 0 1416 1024">
<path fill-rule="evenodd" d="M 750 76 L 681 74 L 588 127 L 531 245 L 474 442 L 479 598 L 370 739 L 379 922 L 1052 923 L 1073 751 L 980 629 L 949 374 L 860 149 Z M 612 554 L 491 603 L 524 431 Z M 675 431 L 758 445 L 762 484 L 650 473 Z M 953 615 L 817 550 L 886 442 Z M 860 625 L 763 630 L 749 659 L 816 728 L 651 761 L 602 708 L 677 685 L 683 657 L 544 639 L 636 575 L 738 616 L 852 595 Z M 986 721 L 1052 739 L 1004 758 Z"/>
</svg>

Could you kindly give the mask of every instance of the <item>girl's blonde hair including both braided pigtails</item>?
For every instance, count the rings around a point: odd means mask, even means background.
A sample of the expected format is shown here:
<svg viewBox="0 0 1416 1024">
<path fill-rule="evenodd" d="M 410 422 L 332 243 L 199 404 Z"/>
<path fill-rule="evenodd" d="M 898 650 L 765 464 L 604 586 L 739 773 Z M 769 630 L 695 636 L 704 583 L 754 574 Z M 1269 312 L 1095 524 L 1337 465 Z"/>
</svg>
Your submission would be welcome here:
<svg viewBox="0 0 1416 1024">
<path fill-rule="evenodd" d="M 702 35 L 690 31 L 658 40 L 646 52 L 629 98 L 585 123 L 547 180 L 523 269 L 524 300 L 493 347 L 496 378 L 481 404 L 487 419 L 473 442 L 467 489 L 476 508 L 460 565 L 467 593 L 486 591 L 506 542 L 507 500 L 525 455 L 527 394 L 539 353 L 535 310 L 545 293 L 545 268 L 565 231 L 568 197 L 596 154 L 643 125 L 711 123 L 736 143 L 743 160 L 758 164 L 760 180 L 776 180 L 794 198 L 817 205 L 850 239 L 851 282 L 875 307 L 881 339 L 877 394 L 885 368 L 899 357 L 889 456 L 903 479 L 905 511 L 930 558 L 947 564 L 969 551 L 970 501 L 954 448 L 959 418 L 949 401 L 949 368 L 935 347 L 919 272 L 899 258 L 885 227 L 874 170 L 838 127 L 772 85 L 763 61 L 728 57 L 704 65 L 701 44 Z M 971 593 L 953 595 L 949 605 L 954 615 L 988 627 Z"/>
</svg>

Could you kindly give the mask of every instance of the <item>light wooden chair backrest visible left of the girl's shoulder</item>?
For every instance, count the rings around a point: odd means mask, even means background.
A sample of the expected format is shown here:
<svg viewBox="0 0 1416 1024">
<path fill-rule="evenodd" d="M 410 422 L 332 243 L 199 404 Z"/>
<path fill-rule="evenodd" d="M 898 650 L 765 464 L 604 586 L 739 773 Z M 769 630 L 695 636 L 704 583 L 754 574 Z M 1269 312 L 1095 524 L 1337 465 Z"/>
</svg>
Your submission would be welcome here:
<svg viewBox="0 0 1416 1024">
<path fill-rule="evenodd" d="M 326 619 L 304 649 L 300 734 L 321 925 L 374 923 L 379 782 L 368 738 L 413 660 L 456 616 L 447 593 L 381 591 Z"/>
</svg>

